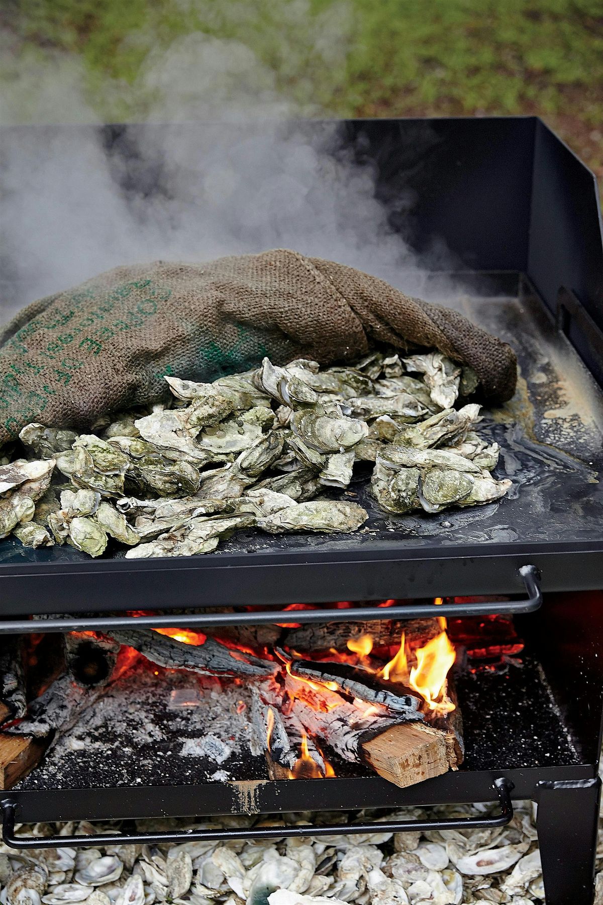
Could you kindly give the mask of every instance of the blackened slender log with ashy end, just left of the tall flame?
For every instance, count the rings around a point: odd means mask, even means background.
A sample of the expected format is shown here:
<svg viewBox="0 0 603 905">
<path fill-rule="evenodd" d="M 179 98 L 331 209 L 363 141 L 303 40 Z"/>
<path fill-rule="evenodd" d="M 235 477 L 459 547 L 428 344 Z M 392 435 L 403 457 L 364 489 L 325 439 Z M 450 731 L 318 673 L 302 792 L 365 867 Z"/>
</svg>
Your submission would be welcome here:
<svg viewBox="0 0 603 905">
<path fill-rule="evenodd" d="M 398 682 L 379 681 L 367 670 L 331 661 L 297 660 L 280 648 L 275 649 L 287 664 L 287 672 L 299 679 L 311 679 L 330 691 L 343 691 L 351 698 L 379 704 L 407 720 L 423 719 L 419 712 L 422 698 Z"/>
</svg>

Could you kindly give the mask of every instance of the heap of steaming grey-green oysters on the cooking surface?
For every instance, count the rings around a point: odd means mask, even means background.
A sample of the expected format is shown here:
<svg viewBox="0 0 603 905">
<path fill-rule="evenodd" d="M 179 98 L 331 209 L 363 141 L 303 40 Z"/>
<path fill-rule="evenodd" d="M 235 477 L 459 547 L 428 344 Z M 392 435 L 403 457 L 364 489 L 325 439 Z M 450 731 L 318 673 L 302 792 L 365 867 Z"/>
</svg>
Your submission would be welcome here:
<svg viewBox="0 0 603 905">
<path fill-rule="evenodd" d="M 359 461 L 375 462 L 372 492 L 393 514 L 474 506 L 511 487 L 490 473 L 499 447 L 475 432 L 480 406 L 454 407 L 474 372 L 441 352 L 324 370 L 264 358 L 211 384 L 166 380 L 168 405 L 101 418 L 92 433 L 27 424 L 27 457 L 0 464 L 0 538 L 92 557 L 114 538 L 127 557 L 174 557 L 237 529 L 354 531 L 366 510 L 317 494 L 346 491 Z"/>
</svg>

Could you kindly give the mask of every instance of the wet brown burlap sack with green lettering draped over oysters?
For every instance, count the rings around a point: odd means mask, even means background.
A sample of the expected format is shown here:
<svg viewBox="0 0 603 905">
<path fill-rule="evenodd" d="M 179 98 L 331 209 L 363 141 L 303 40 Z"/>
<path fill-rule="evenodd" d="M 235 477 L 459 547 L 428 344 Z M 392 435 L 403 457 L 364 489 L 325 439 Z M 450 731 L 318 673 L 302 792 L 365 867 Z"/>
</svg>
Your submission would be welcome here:
<svg viewBox="0 0 603 905">
<path fill-rule="evenodd" d="M 351 267 L 283 250 L 158 261 L 36 301 L 0 332 L 0 444 L 31 421 L 84 429 L 144 404 L 165 392 L 165 374 L 211 380 L 264 355 L 349 362 L 375 341 L 437 347 L 474 367 L 486 398 L 513 393 L 509 346 Z"/>
</svg>

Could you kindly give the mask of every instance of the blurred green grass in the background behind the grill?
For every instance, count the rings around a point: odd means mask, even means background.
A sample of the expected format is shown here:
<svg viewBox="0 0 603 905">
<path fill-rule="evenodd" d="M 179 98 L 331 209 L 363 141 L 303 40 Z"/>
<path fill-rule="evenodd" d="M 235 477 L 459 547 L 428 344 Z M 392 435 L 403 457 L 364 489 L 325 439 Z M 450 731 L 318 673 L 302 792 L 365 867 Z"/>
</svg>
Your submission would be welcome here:
<svg viewBox="0 0 603 905">
<path fill-rule="evenodd" d="M 8 0 L 3 22 L 9 119 L 53 118 L 53 80 L 100 119 L 170 110 L 166 92 L 192 114 L 212 98 L 338 116 L 538 113 L 603 174 L 601 0 Z"/>
</svg>

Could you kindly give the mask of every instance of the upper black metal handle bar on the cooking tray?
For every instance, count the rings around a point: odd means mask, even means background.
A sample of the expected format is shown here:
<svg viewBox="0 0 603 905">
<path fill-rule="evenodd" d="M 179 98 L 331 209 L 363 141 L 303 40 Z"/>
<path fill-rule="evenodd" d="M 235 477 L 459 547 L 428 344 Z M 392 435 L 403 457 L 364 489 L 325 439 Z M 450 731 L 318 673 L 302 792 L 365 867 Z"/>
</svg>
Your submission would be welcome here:
<svg viewBox="0 0 603 905">
<path fill-rule="evenodd" d="M 376 622 L 381 619 L 423 619 L 433 616 L 472 616 L 502 613 L 533 613 L 542 605 L 538 570 L 519 570 L 527 597 L 524 600 L 493 600 L 466 604 L 405 604 L 403 606 L 358 606 L 349 609 L 268 610 L 263 613 L 194 613 L 150 616 L 54 616 L 50 619 L 14 619 L 0 622 L 0 635 L 49 632 L 110 631 L 116 628 L 217 628 L 221 625 L 275 625 L 325 622 Z"/>
</svg>

